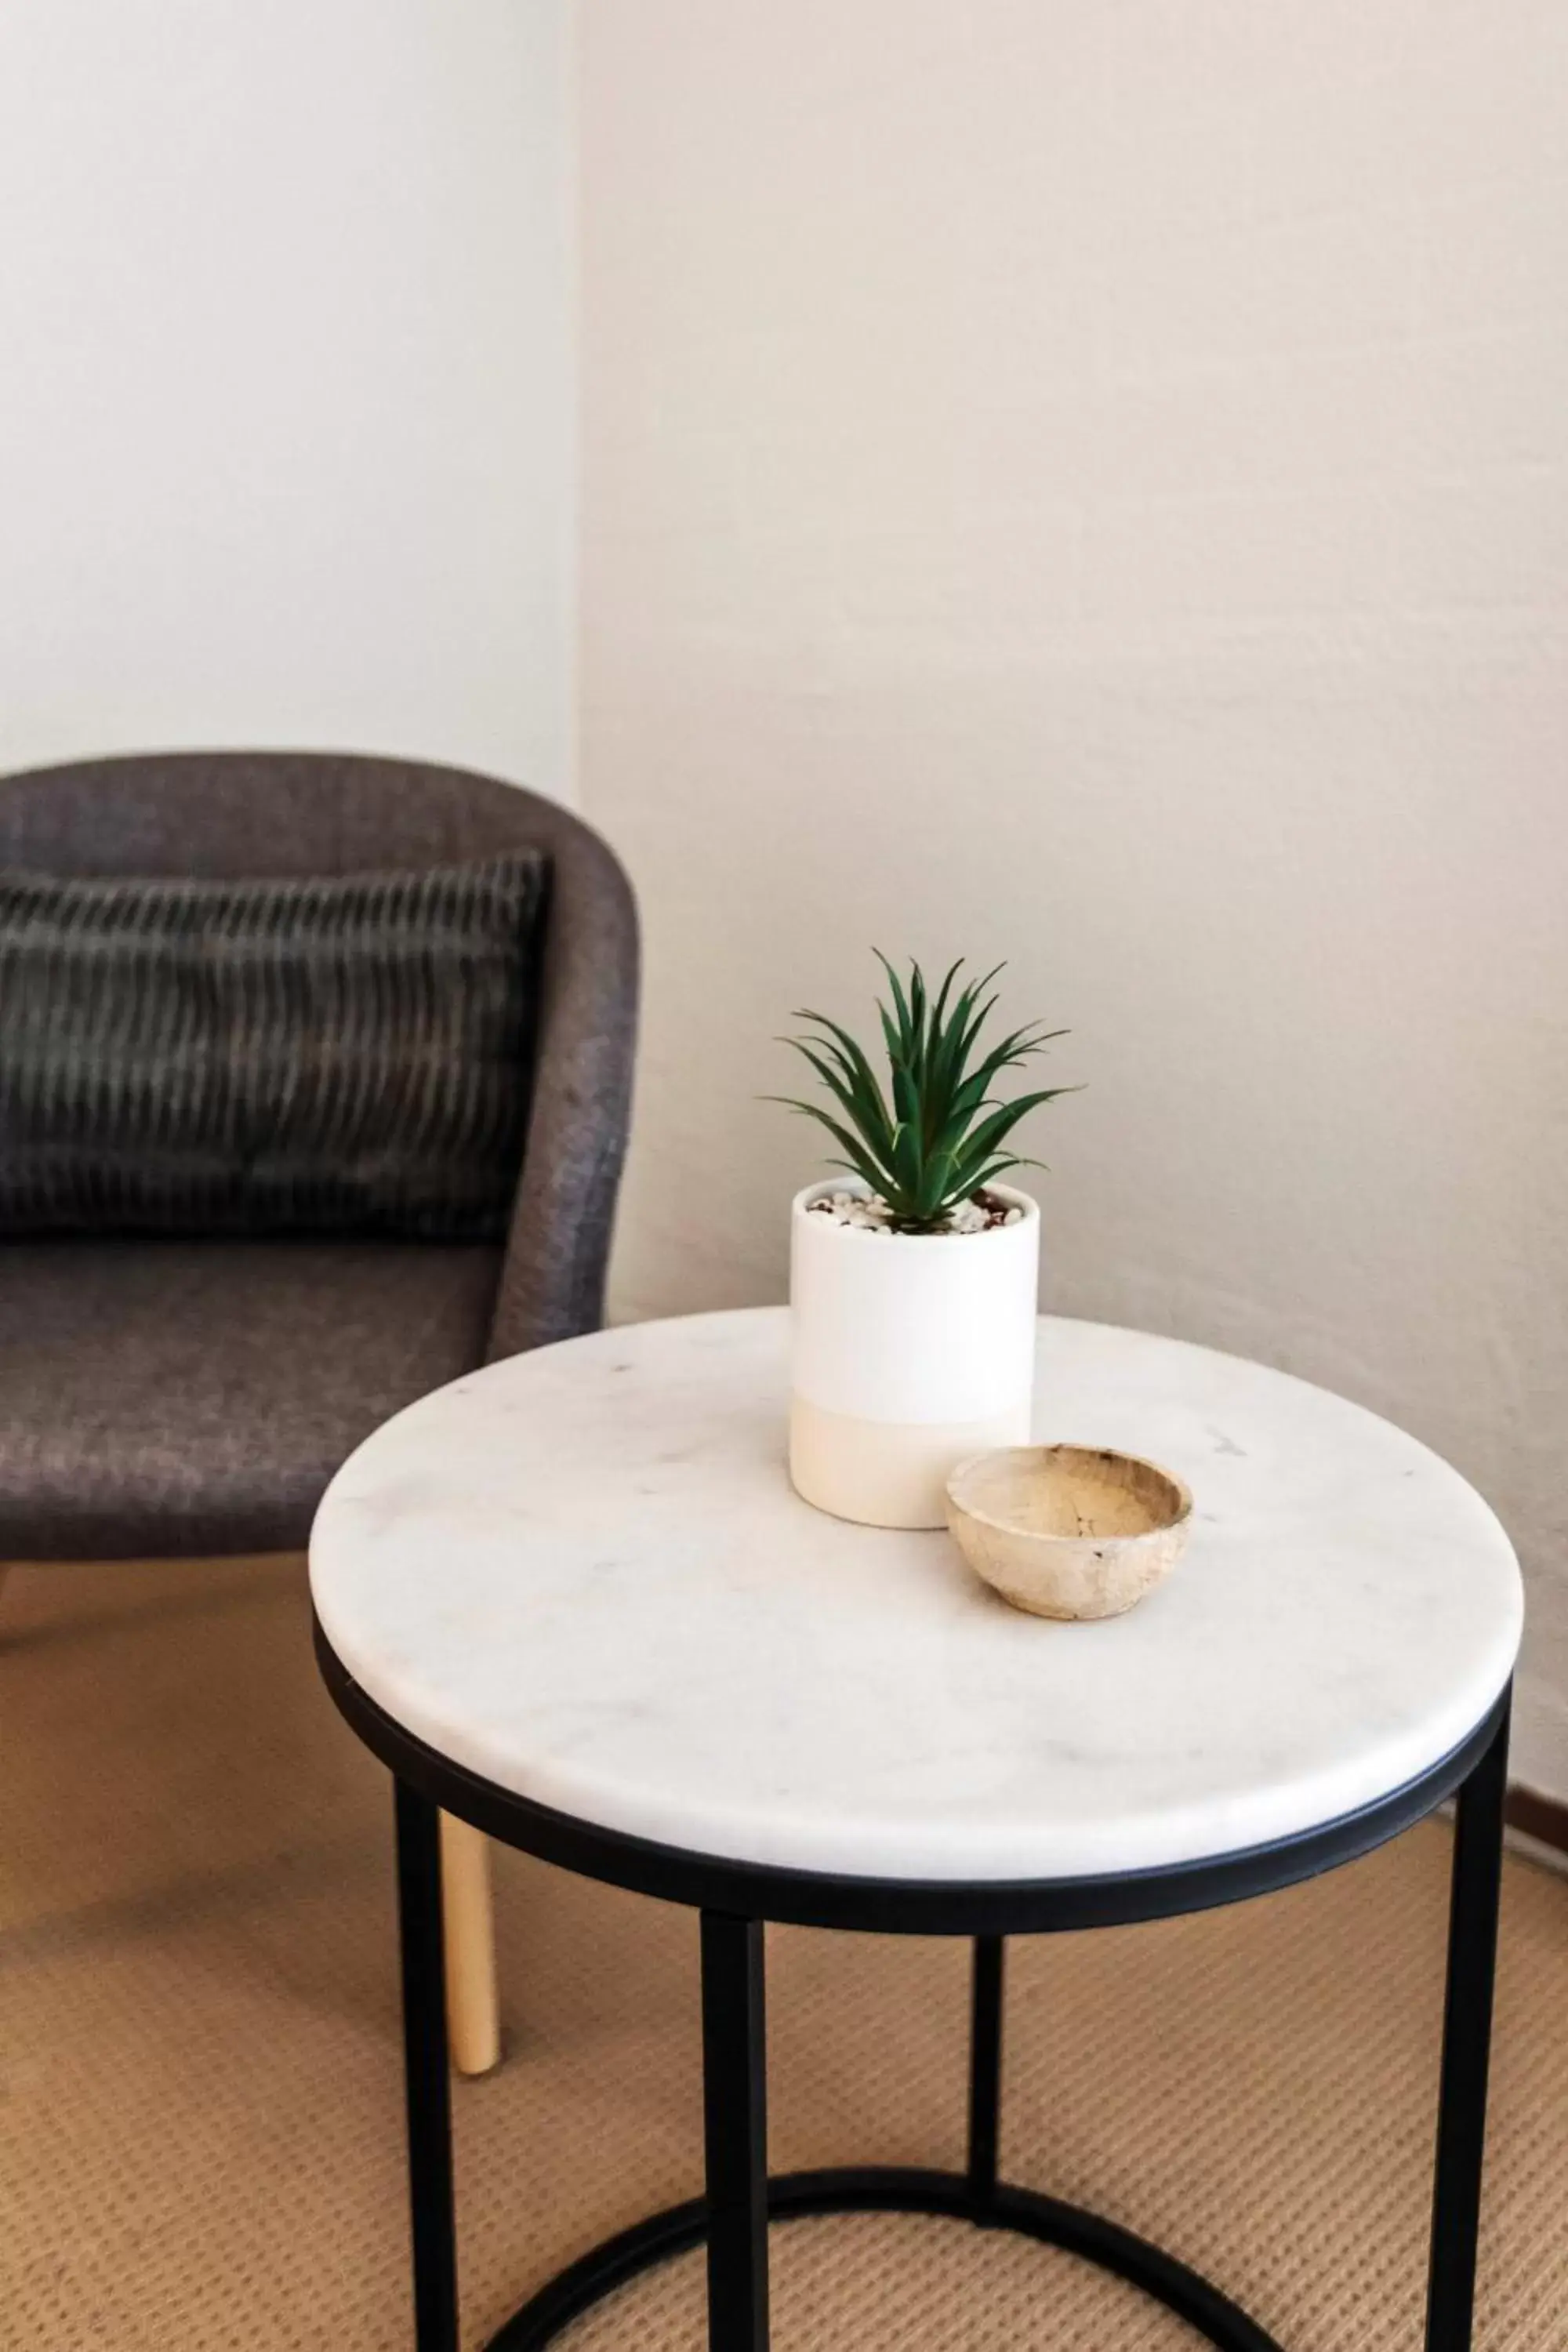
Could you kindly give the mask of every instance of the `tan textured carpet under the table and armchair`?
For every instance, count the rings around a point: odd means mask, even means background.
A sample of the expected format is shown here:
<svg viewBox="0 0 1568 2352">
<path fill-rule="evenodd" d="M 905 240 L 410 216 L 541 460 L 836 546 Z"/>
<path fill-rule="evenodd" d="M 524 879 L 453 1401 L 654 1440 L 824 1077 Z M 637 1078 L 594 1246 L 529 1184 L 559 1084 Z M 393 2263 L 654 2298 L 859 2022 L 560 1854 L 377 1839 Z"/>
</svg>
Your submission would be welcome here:
<svg viewBox="0 0 1568 2352">
<path fill-rule="evenodd" d="M 292 1562 L 0 1599 L 0 2345 L 409 2340 L 378 1769 Z M 1415 2352 L 1448 1835 L 1206 1919 L 1016 1943 L 1004 2161 L 1161 2237 L 1291 2352 Z M 698 2187 L 691 1917 L 515 1856 L 510 2063 L 458 2091 L 465 2340 Z M 773 2161 L 957 2164 L 961 1945 L 776 1931 Z M 1479 2352 L 1568 2345 L 1568 1884 L 1509 1863 Z M 1044 2249 L 773 2234 L 778 2352 L 1175 2352 Z M 696 2352 L 686 2260 L 574 2352 Z"/>
</svg>

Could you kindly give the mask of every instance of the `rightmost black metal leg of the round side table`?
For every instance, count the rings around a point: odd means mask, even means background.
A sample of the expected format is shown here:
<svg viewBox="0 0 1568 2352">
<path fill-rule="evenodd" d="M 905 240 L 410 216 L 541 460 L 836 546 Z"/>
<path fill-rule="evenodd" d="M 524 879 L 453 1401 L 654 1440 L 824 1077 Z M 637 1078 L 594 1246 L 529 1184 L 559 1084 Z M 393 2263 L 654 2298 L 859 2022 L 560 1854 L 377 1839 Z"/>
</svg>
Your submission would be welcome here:
<svg viewBox="0 0 1568 2352">
<path fill-rule="evenodd" d="M 1486 1755 L 1460 1790 L 1453 1832 L 1427 2352 L 1469 2352 L 1472 2345 L 1507 1757 L 1509 1719 L 1505 1710 Z"/>
</svg>

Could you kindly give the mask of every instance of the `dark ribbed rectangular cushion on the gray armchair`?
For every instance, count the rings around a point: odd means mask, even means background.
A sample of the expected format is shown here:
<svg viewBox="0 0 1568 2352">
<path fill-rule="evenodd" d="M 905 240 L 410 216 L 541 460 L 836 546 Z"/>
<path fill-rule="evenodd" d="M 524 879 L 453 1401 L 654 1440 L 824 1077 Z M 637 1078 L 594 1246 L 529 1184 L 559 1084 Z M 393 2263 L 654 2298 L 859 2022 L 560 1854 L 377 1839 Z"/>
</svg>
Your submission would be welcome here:
<svg viewBox="0 0 1568 2352">
<path fill-rule="evenodd" d="M 0 1232 L 498 1237 L 543 898 L 0 873 Z"/>
</svg>

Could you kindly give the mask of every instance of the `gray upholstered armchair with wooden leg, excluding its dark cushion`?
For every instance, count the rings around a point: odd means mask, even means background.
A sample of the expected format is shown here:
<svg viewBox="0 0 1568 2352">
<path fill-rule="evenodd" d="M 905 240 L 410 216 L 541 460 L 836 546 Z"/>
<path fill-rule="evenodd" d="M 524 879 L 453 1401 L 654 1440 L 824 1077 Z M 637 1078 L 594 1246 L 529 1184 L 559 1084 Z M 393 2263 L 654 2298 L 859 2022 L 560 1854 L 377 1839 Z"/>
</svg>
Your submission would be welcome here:
<svg viewBox="0 0 1568 2352">
<path fill-rule="evenodd" d="M 628 880 L 534 793 L 339 753 L 0 779 L 0 866 L 54 875 L 343 875 L 520 847 L 545 851 L 550 896 L 505 1247 L 0 1232 L 0 1562 L 303 1548 L 327 1479 L 388 1414 L 480 1362 L 595 1329 L 637 1016 Z M 465 1985 L 484 2009 L 482 1860 L 458 1856 L 454 1832 L 454 2027 Z M 494 1985 L 489 1999 L 494 2011 Z M 484 2060 L 477 2011 L 468 2053 L 454 2032 L 458 2063 Z"/>
</svg>

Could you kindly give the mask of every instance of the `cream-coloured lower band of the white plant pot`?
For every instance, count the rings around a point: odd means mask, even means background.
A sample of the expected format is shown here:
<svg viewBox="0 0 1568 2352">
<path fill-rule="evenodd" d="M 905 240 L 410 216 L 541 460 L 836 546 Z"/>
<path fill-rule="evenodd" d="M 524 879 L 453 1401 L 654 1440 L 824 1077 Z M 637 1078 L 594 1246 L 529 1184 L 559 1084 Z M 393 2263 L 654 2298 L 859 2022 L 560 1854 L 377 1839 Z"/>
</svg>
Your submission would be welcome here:
<svg viewBox="0 0 1568 2352">
<path fill-rule="evenodd" d="M 936 1244 L 940 1247 L 940 1244 Z M 987 1446 L 1030 1437 L 1030 1399 L 990 1421 L 858 1421 L 790 1399 L 795 1491 L 860 1526 L 947 1526 L 947 1477 Z"/>
</svg>

